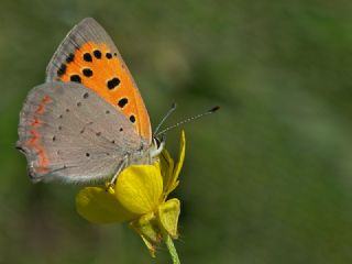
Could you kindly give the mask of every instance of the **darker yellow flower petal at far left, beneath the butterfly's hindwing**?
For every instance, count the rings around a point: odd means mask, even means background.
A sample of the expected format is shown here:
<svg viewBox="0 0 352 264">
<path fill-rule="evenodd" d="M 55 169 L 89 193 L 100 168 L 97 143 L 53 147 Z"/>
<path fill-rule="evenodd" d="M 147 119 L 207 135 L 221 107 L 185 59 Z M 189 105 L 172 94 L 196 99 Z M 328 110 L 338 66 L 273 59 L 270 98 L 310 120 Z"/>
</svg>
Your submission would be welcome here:
<svg viewBox="0 0 352 264">
<path fill-rule="evenodd" d="M 82 188 L 76 196 L 76 209 L 82 218 L 95 223 L 123 222 L 136 218 L 121 206 L 114 194 L 102 187 Z"/>
</svg>

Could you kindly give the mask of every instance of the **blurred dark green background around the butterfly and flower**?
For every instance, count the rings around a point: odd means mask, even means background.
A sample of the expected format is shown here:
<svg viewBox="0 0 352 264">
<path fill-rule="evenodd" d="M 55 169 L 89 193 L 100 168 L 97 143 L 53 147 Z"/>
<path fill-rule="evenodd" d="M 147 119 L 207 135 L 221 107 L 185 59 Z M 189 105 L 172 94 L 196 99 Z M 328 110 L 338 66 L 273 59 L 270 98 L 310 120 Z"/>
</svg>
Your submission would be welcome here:
<svg viewBox="0 0 352 264">
<path fill-rule="evenodd" d="M 86 16 L 117 43 L 154 127 L 185 125 L 183 263 L 352 263 L 352 2 L 1 0 L 0 263 L 169 263 L 125 224 L 32 185 L 14 150 L 29 90 Z M 168 134 L 177 153 L 179 129 Z"/>
</svg>

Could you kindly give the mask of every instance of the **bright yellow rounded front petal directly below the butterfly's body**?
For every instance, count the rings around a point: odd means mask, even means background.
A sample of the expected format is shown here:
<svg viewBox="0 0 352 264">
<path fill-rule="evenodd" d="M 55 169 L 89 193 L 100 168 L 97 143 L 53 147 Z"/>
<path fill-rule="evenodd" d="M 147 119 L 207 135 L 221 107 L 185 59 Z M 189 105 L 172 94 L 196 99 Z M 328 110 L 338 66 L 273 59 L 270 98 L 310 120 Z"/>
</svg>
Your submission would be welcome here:
<svg viewBox="0 0 352 264">
<path fill-rule="evenodd" d="M 155 210 L 163 194 L 163 178 L 157 165 L 132 165 L 125 168 L 116 184 L 121 205 L 135 215 Z"/>
</svg>

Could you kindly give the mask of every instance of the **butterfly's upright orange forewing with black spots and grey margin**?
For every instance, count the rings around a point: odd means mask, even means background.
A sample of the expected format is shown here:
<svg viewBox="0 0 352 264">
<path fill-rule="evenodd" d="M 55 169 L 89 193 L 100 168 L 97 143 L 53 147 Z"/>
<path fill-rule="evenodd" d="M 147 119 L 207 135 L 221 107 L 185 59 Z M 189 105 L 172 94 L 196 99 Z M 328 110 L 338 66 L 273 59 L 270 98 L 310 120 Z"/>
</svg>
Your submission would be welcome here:
<svg viewBox="0 0 352 264">
<path fill-rule="evenodd" d="M 108 33 L 94 19 L 77 24 L 46 68 L 46 81 L 76 81 L 95 90 L 151 143 L 150 118 L 140 91 Z"/>
</svg>

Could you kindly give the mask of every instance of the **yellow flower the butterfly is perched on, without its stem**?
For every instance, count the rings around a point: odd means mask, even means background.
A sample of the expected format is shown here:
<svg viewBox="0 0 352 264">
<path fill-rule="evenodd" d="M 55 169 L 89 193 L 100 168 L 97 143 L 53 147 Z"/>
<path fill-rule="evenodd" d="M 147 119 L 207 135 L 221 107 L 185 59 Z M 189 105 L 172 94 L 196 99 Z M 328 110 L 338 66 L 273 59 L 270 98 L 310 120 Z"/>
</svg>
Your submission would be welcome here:
<svg viewBox="0 0 352 264">
<path fill-rule="evenodd" d="M 141 235 L 152 256 L 167 233 L 177 238 L 180 202 L 167 196 L 177 187 L 185 158 L 185 132 L 180 136 L 178 162 L 164 150 L 152 165 L 131 165 L 119 175 L 114 188 L 82 188 L 76 196 L 78 213 L 90 222 L 129 221 Z"/>
</svg>

